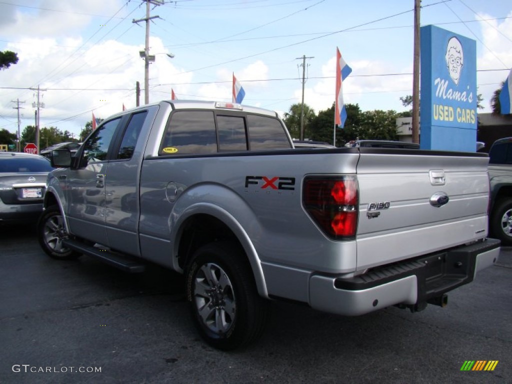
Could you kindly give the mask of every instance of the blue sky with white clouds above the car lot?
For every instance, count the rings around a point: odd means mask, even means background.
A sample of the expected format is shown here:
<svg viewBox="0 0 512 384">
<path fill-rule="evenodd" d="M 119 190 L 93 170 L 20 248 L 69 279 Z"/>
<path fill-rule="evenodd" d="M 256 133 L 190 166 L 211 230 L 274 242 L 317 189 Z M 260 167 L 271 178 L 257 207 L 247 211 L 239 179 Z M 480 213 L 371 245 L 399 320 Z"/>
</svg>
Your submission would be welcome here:
<svg viewBox="0 0 512 384">
<path fill-rule="evenodd" d="M 476 40 L 484 109 L 512 68 L 512 2 L 422 0 L 420 24 Z M 346 103 L 362 111 L 407 110 L 412 95 L 414 0 L 165 0 L 152 5 L 150 102 L 231 101 L 232 74 L 243 104 L 281 115 L 302 100 L 315 113 L 335 99 L 336 48 L 352 68 Z M 0 51 L 16 65 L 0 71 L 0 129 L 55 126 L 78 137 L 92 114 L 106 118 L 144 103 L 145 2 L 0 0 Z M 169 58 L 166 54 L 174 55 Z M 304 60 L 303 57 L 306 57 Z M 305 63 L 305 67 L 302 65 Z M 44 91 L 42 91 L 44 90 Z"/>
</svg>

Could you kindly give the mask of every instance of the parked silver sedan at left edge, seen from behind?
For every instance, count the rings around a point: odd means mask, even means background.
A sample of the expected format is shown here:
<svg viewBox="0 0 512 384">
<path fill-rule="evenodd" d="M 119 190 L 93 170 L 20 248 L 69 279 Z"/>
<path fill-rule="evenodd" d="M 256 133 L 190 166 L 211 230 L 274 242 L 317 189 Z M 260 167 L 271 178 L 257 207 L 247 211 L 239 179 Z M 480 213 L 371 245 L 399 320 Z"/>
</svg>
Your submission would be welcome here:
<svg viewBox="0 0 512 384">
<path fill-rule="evenodd" d="M 0 224 L 37 220 L 46 177 L 53 169 L 50 161 L 39 155 L 0 153 Z"/>
</svg>

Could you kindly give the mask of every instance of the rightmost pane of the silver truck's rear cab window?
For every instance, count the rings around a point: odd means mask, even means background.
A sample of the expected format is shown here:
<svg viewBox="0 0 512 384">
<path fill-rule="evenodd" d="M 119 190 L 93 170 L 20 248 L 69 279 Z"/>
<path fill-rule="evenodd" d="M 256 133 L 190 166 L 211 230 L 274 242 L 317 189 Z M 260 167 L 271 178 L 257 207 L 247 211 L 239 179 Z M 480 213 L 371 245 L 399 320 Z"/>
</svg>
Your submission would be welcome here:
<svg viewBox="0 0 512 384">
<path fill-rule="evenodd" d="M 249 145 L 251 151 L 291 148 L 284 126 L 278 119 L 248 115 Z"/>
</svg>

